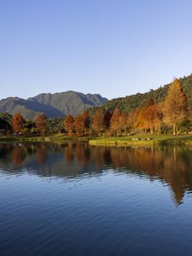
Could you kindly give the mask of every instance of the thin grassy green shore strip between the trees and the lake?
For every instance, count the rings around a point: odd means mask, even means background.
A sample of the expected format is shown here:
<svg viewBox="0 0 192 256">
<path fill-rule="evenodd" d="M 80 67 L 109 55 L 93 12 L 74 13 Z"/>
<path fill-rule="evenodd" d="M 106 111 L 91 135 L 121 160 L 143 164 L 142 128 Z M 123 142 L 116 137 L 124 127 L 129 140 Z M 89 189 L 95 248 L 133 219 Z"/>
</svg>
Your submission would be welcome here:
<svg viewBox="0 0 192 256">
<path fill-rule="evenodd" d="M 192 135 L 135 135 L 129 137 L 69 137 L 52 134 L 47 137 L 0 137 L 0 142 L 64 142 L 86 141 L 93 146 L 155 146 L 155 145 L 192 145 Z"/>
</svg>

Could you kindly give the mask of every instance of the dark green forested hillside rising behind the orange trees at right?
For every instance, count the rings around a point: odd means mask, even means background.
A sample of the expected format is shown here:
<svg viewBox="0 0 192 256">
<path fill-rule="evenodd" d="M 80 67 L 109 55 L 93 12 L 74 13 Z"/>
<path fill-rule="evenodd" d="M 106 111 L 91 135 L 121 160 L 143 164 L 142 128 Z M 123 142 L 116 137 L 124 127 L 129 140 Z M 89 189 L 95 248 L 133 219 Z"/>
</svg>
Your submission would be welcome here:
<svg viewBox="0 0 192 256">
<path fill-rule="evenodd" d="M 188 96 L 189 111 L 192 112 L 192 74 L 179 80 L 182 84 L 183 92 Z M 131 109 L 144 106 L 148 101 L 148 98 L 152 98 L 154 102 L 163 102 L 167 95 L 169 85 L 170 84 L 160 86 L 158 89 L 150 90 L 146 93 L 137 93 L 132 96 L 115 98 L 104 103 L 101 108 L 103 110 L 109 110 L 110 112 L 113 112 L 115 108 L 119 108 L 122 112 L 129 112 Z M 95 108 L 90 109 L 90 113 L 93 113 L 94 111 Z"/>
</svg>

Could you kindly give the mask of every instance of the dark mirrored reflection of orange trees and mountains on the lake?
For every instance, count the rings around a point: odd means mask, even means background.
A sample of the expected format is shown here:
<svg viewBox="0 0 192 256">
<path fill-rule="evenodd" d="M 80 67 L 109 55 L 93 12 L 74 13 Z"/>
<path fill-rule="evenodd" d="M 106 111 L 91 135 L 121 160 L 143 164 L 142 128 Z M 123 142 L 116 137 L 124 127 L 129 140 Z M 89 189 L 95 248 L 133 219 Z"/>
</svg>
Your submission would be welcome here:
<svg viewBox="0 0 192 256">
<path fill-rule="evenodd" d="M 192 191 L 192 148 L 104 148 L 87 143 L 1 143 L 2 172 L 80 177 L 108 169 L 169 184 L 177 204 Z"/>
</svg>

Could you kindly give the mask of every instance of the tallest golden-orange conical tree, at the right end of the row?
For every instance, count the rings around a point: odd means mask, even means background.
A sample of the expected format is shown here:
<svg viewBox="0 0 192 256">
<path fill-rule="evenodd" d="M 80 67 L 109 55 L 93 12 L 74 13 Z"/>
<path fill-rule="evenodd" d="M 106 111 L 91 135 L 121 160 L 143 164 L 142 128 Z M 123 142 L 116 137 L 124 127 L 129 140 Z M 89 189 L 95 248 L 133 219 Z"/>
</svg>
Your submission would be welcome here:
<svg viewBox="0 0 192 256">
<path fill-rule="evenodd" d="M 164 116 L 167 125 L 172 125 L 172 131 L 177 133 L 177 126 L 188 117 L 187 97 L 178 79 L 175 79 L 169 87 L 164 104 Z"/>
</svg>

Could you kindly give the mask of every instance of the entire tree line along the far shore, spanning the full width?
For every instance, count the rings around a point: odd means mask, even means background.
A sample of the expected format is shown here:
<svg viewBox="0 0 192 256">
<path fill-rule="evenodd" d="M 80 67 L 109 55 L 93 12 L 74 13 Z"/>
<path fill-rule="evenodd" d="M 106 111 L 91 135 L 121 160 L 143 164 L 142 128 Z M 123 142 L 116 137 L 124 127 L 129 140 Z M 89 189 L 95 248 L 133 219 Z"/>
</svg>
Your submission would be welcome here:
<svg viewBox="0 0 192 256">
<path fill-rule="evenodd" d="M 94 113 L 84 111 L 76 117 L 68 114 L 63 119 L 47 119 L 40 113 L 34 121 L 26 120 L 20 113 L 12 117 L 8 113 L 0 115 L 0 131 L 7 135 L 45 136 L 48 133 L 66 132 L 69 136 L 121 136 L 136 133 L 167 133 L 172 134 L 190 130 L 188 98 L 178 79 L 169 86 L 163 102 L 154 102 L 148 98 L 143 107 L 128 112 L 114 108 L 113 112 L 96 108 Z M 172 129 L 172 131 L 171 131 Z"/>
</svg>

